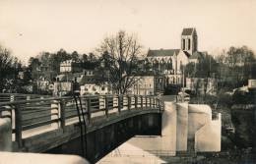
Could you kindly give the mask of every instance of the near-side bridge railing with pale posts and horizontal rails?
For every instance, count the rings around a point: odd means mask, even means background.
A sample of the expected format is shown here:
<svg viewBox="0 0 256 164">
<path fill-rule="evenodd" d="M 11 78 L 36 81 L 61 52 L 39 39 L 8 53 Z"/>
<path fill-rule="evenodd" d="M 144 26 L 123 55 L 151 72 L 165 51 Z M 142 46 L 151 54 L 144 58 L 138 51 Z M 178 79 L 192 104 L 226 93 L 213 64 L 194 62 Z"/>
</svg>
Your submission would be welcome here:
<svg viewBox="0 0 256 164">
<path fill-rule="evenodd" d="M 162 110 L 162 102 L 151 95 L 96 95 L 82 96 L 78 106 L 83 108 L 86 121 L 109 117 L 129 110 Z M 12 121 L 13 139 L 22 146 L 23 138 L 32 137 L 79 122 L 73 97 L 52 97 L 0 102 L 0 118 Z M 35 131 L 36 130 L 36 131 Z"/>
</svg>

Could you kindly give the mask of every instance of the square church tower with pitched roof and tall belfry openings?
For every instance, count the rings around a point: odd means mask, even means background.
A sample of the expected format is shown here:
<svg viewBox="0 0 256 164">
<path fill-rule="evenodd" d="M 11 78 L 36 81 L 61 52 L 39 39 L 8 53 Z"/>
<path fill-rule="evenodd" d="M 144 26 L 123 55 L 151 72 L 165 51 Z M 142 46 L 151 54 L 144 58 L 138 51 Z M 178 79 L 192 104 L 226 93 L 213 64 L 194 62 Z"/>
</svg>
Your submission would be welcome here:
<svg viewBox="0 0 256 164">
<path fill-rule="evenodd" d="M 183 28 L 181 33 L 181 50 L 187 51 L 190 55 L 197 51 L 196 28 Z"/>
</svg>

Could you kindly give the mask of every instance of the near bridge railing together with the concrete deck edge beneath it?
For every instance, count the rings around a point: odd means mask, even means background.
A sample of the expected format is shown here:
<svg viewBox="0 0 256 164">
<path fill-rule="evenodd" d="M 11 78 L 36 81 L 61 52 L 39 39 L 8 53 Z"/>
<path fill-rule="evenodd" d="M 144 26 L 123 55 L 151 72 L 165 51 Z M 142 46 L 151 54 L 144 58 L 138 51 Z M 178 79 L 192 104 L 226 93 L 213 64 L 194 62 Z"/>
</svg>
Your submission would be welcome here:
<svg viewBox="0 0 256 164">
<path fill-rule="evenodd" d="M 158 97 L 137 95 L 83 96 L 81 104 L 88 133 L 122 119 L 160 113 Z M 0 118 L 12 120 L 13 150 L 43 152 L 80 136 L 73 97 L 32 99 L 0 103 Z"/>
</svg>

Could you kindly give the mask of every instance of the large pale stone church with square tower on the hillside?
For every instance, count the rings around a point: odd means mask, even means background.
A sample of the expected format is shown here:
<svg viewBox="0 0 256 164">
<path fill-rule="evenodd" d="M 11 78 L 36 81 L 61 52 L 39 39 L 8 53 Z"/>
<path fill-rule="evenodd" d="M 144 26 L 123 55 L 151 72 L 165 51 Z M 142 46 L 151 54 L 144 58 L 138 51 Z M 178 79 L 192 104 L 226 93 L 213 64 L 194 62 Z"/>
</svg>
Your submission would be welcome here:
<svg viewBox="0 0 256 164">
<path fill-rule="evenodd" d="M 182 84 L 183 68 L 188 63 L 198 63 L 206 53 L 198 51 L 198 37 L 195 27 L 183 28 L 180 49 L 149 50 L 147 62 L 159 74 L 163 74 L 166 83 Z"/>
</svg>

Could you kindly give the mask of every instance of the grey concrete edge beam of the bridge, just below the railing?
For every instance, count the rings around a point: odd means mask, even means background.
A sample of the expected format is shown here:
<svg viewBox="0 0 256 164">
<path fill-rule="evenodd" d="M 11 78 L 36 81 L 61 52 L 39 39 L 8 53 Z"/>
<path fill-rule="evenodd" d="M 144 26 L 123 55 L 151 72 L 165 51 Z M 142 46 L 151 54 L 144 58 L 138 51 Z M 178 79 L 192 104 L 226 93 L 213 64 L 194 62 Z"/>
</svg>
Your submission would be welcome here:
<svg viewBox="0 0 256 164">
<path fill-rule="evenodd" d="M 117 123 L 127 118 L 131 118 L 138 115 L 143 115 L 147 113 L 160 113 L 159 109 L 144 109 L 123 111 L 120 114 L 110 114 L 108 118 L 102 116 L 92 120 L 92 124 L 88 126 L 87 134 L 102 129 L 108 125 Z M 48 131 L 46 133 L 36 135 L 33 137 L 27 137 L 24 139 L 23 148 L 29 152 L 44 152 L 53 147 L 61 145 L 68 140 L 80 137 L 79 123 L 71 124 L 62 129 L 55 129 Z"/>
</svg>

